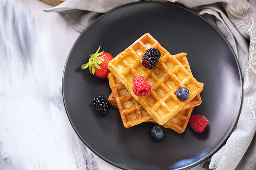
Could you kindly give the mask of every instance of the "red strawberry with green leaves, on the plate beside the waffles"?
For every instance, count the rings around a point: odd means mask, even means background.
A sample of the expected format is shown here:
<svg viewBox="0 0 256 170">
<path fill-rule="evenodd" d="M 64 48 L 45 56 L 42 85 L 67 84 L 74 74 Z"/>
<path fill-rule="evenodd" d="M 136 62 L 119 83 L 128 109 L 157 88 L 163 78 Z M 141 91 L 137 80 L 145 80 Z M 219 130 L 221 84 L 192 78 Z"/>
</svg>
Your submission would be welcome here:
<svg viewBox="0 0 256 170">
<path fill-rule="evenodd" d="M 99 52 L 101 46 L 98 48 L 96 53 L 90 55 L 90 59 L 88 63 L 82 65 L 82 69 L 86 69 L 89 67 L 89 71 L 91 74 L 106 79 L 109 74 L 108 63 L 113 59 L 113 56 L 104 51 Z"/>
</svg>

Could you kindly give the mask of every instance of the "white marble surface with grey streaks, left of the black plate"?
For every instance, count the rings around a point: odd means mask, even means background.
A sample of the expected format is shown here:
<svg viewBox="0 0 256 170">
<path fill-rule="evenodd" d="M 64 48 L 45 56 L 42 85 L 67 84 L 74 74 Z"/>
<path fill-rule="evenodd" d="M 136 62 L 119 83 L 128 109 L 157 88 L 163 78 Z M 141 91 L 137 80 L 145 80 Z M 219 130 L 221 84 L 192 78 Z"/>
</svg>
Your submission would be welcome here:
<svg viewBox="0 0 256 170">
<path fill-rule="evenodd" d="M 79 33 L 39 0 L 0 1 L 0 169 L 117 169 L 74 132 L 62 74 Z"/>
</svg>

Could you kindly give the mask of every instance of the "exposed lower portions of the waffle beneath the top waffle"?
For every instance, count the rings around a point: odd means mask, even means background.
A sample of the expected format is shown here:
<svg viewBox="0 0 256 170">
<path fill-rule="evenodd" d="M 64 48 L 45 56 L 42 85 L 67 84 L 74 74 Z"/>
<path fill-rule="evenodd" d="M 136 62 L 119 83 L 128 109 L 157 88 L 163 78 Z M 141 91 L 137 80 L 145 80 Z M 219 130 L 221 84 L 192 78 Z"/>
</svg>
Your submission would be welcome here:
<svg viewBox="0 0 256 170">
<path fill-rule="evenodd" d="M 113 106 L 118 107 L 125 128 L 129 128 L 143 122 L 155 123 L 154 119 L 129 93 L 124 93 L 125 87 L 118 82 L 112 73 L 109 73 L 108 79 L 112 90 L 108 100 Z M 127 105 L 127 103 L 129 104 Z M 124 107 L 124 105 L 129 107 Z M 172 129 L 177 133 L 183 133 L 187 127 L 193 109 L 194 107 L 191 107 L 189 109 L 179 111 L 172 120 L 166 122 L 162 126 Z"/>
</svg>

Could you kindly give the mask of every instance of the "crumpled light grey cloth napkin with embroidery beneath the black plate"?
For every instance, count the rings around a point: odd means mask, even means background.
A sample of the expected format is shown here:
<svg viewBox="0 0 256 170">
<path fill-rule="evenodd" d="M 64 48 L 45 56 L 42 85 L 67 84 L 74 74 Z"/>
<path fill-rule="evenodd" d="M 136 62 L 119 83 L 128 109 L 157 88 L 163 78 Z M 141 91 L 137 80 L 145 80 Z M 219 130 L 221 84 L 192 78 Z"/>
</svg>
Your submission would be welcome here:
<svg viewBox="0 0 256 170">
<path fill-rule="evenodd" d="M 45 9 L 58 12 L 75 30 L 82 32 L 92 21 L 118 6 L 138 0 L 67 0 Z M 175 2 L 167 1 L 167 2 Z M 238 123 L 209 160 L 192 169 L 254 169 L 256 162 L 256 1 L 204 0 L 176 2 L 214 24 L 232 46 L 244 80 L 243 103 Z M 221 129 L 220 129 L 221 130 Z"/>
</svg>

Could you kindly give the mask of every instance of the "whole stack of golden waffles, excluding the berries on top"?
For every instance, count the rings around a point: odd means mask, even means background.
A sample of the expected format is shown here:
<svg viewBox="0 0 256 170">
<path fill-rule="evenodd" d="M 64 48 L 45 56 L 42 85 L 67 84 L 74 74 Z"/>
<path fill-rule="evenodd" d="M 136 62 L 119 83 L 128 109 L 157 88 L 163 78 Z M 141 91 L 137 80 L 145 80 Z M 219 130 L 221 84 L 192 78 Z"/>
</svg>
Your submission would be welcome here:
<svg viewBox="0 0 256 170">
<path fill-rule="evenodd" d="M 147 49 L 157 48 L 161 57 L 154 69 L 142 66 Z M 124 127 L 143 122 L 155 122 L 177 133 L 184 132 L 191 112 L 201 104 L 203 84 L 192 75 L 186 53 L 170 55 L 149 33 L 144 34 L 131 46 L 118 54 L 108 64 L 112 93 L 109 102 L 118 107 Z M 136 96 L 132 81 L 136 76 L 145 77 L 151 84 L 150 94 Z M 190 96 L 181 101 L 176 91 L 186 87 Z"/>
</svg>

